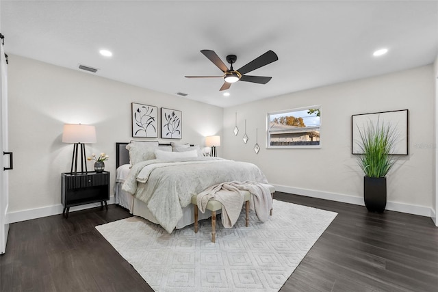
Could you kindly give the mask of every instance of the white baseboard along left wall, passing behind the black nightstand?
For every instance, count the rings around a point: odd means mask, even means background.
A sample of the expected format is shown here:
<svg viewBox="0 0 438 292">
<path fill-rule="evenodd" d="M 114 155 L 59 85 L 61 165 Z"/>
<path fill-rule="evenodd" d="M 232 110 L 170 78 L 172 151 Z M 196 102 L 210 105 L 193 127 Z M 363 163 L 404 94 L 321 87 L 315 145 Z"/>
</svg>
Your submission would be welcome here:
<svg viewBox="0 0 438 292">
<path fill-rule="evenodd" d="M 107 201 L 107 204 L 114 204 L 114 196 L 110 197 L 110 200 Z M 79 211 L 79 210 L 83 210 L 83 209 L 90 209 L 90 208 L 100 207 L 100 206 L 101 206 L 100 202 L 96 202 L 96 203 L 92 203 L 92 204 L 83 204 L 81 206 L 71 207 L 70 212 Z M 36 219 L 36 218 L 40 218 L 40 217 L 47 217 L 47 216 L 62 214 L 63 209 L 64 209 L 64 207 L 62 207 L 62 204 L 57 204 L 54 206 L 48 206 L 48 207 L 28 209 L 28 210 L 23 210 L 23 211 L 16 211 L 16 212 L 7 213 L 6 214 L 6 224 Z"/>
</svg>

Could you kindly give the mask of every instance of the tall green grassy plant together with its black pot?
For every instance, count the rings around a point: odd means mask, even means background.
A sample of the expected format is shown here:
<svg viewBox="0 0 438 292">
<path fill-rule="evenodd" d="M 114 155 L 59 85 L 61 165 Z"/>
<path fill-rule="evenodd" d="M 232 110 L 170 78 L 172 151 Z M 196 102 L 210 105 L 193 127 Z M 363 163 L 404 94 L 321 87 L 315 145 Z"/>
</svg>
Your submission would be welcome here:
<svg viewBox="0 0 438 292">
<path fill-rule="evenodd" d="M 368 211 L 383 213 L 386 207 L 386 175 L 394 166 L 396 157 L 391 155 L 396 142 L 396 131 L 391 124 L 377 120 L 376 124 L 368 122 L 359 129 L 357 145 L 363 154 L 358 163 L 363 177 L 363 200 Z"/>
</svg>

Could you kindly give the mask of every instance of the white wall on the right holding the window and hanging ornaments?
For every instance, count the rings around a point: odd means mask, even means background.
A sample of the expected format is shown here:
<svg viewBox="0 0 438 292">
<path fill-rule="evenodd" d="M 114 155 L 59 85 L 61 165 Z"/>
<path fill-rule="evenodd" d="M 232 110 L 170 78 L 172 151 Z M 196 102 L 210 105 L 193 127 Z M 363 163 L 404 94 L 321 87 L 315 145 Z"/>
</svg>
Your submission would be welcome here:
<svg viewBox="0 0 438 292">
<path fill-rule="evenodd" d="M 351 115 L 409 109 L 409 156 L 387 176 L 387 209 L 430 216 L 435 179 L 433 76 L 433 66 L 423 66 L 224 109 L 223 155 L 256 163 L 280 191 L 363 204 L 363 174 L 350 154 Z M 322 148 L 265 148 L 267 112 L 310 105 L 322 105 Z M 248 144 L 242 142 L 244 119 Z M 253 151 L 256 128 L 258 155 Z"/>
</svg>

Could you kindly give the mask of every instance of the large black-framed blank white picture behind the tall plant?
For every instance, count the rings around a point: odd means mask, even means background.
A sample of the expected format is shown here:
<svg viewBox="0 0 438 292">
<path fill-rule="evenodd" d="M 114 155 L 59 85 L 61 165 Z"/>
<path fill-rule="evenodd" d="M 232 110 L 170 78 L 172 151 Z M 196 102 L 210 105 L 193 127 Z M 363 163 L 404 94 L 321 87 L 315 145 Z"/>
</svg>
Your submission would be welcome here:
<svg viewBox="0 0 438 292">
<path fill-rule="evenodd" d="M 394 133 L 392 155 L 408 155 L 408 110 L 381 111 L 372 114 L 357 114 L 351 116 L 351 151 L 352 154 L 363 154 L 359 143 L 361 133 L 366 132 L 370 125 L 374 127 L 391 127 Z"/>
</svg>

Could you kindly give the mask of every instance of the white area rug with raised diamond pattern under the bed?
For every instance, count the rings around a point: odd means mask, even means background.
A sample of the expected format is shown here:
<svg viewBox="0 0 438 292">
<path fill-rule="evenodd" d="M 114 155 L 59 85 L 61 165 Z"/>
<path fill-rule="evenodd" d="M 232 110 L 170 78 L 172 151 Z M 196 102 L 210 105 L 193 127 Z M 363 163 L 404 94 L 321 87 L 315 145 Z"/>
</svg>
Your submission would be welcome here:
<svg viewBox="0 0 438 292">
<path fill-rule="evenodd" d="M 233 228 L 218 218 L 168 234 L 140 217 L 96 226 L 155 291 L 279 291 L 337 213 L 274 200 L 261 223 L 244 209 Z"/>
</svg>

